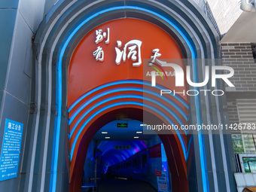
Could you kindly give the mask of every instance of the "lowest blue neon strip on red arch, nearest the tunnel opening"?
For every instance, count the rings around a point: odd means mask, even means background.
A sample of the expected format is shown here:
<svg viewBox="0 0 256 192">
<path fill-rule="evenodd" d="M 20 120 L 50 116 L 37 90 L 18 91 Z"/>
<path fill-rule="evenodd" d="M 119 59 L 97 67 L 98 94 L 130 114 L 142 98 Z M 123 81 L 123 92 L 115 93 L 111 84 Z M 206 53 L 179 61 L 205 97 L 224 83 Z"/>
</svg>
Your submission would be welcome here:
<svg viewBox="0 0 256 192">
<path fill-rule="evenodd" d="M 172 122 L 172 120 L 169 120 L 169 117 L 167 117 L 165 114 L 163 114 L 161 111 L 158 111 L 157 108 L 152 107 L 151 105 L 146 105 L 143 102 L 116 102 L 113 103 L 111 105 L 107 105 L 104 108 L 101 108 L 99 111 L 96 111 L 96 113 L 94 113 L 92 116 L 88 117 L 88 119 L 83 123 L 83 125 L 81 126 L 81 128 L 78 130 L 78 133 L 75 136 L 74 142 L 72 144 L 72 149 L 70 151 L 70 159 L 72 160 L 74 151 L 75 151 L 75 143 L 78 141 L 78 137 L 80 136 L 82 130 L 84 130 L 84 127 L 87 125 L 87 123 L 90 122 L 90 120 L 92 120 L 94 117 L 96 117 L 98 114 L 100 114 L 102 111 L 105 111 L 108 108 L 113 108 L 114 106 L 120 106 L 120 105 L 139 105 L 139 106 L 143 106 L 146 108 L 150 108 L 151 110 L 157 111 L 157 113 L 159 113 L 161 116 L 163 116 L 170 124 L 174 124 Z M 182 151 L 184 154 L 184 158 L 185 160 L 187 160 L 187 146 L 184 142 L 183 137 L 181 136 L 181 134 L 177 134 L 178 139 L 181 141 L 181 147 L 182 147 Z"/>
</svg>

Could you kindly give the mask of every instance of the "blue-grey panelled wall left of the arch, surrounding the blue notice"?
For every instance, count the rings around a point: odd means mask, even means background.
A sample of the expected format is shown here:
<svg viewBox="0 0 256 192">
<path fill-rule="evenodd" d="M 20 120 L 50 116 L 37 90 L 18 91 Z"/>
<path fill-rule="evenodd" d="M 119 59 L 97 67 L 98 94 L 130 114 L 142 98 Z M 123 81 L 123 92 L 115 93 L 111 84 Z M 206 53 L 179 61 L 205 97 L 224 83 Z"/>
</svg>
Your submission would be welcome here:
<svg viewBox="0 0 256 192">
<path fill-rule="evenodd" d="M 52 4 L 53 5 L 53 4 Z M 0 182 L 0 191 L 23 191 L 29 174 L 29 147 L 32 127 L 28 127 L 32 93 L 32 36 L 44 16 L 42 0 L 0 1 L 0 147 L 5 119 L 23 123 L 17 178 Z M 27 150 L 25 150 L 25 148 Z"/>
</svg>

